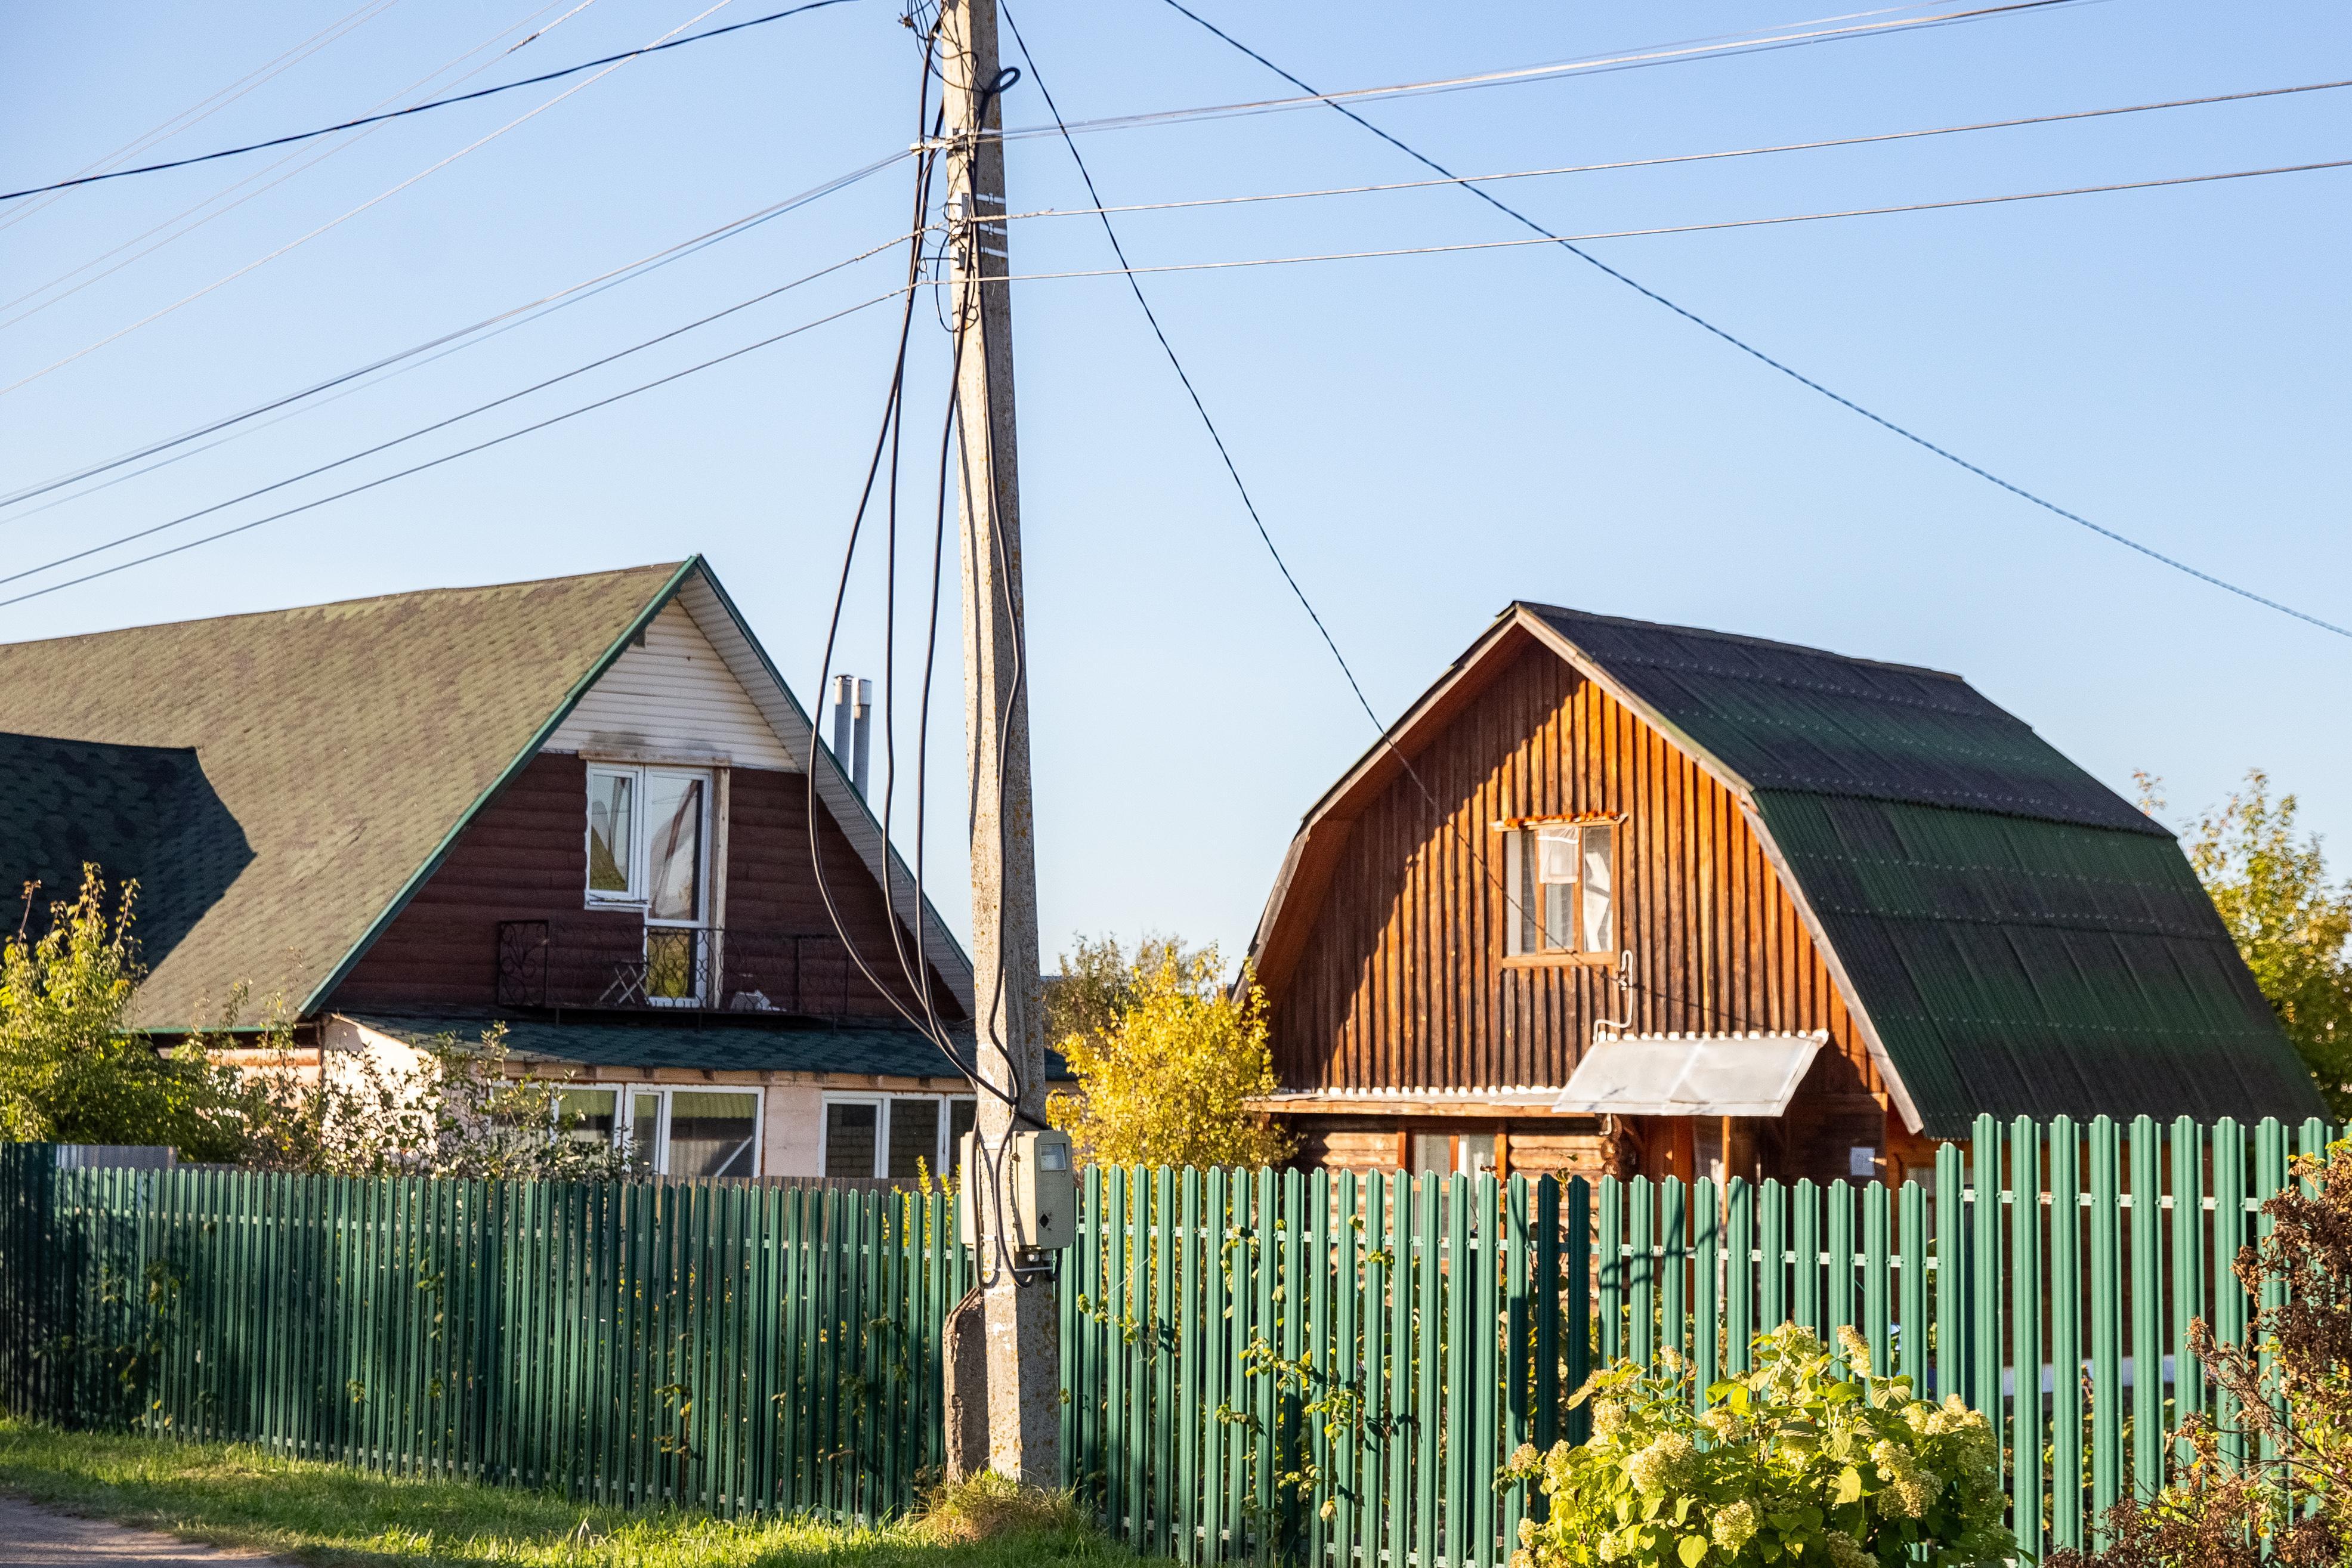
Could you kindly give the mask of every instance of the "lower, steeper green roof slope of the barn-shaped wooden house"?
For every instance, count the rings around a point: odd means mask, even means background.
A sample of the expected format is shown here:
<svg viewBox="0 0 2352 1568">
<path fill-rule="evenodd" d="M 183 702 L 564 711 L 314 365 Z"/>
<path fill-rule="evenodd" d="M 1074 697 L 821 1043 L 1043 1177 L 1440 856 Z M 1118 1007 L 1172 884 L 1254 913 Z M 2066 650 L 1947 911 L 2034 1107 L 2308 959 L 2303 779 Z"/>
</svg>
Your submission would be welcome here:
<svg viewBox="0 0 2352 1568">
<path fill-rule="evenodd" d="M 2319 1095 L 2169 835 L 1759 790 L 1926 1131 Z"/>
</svg>

